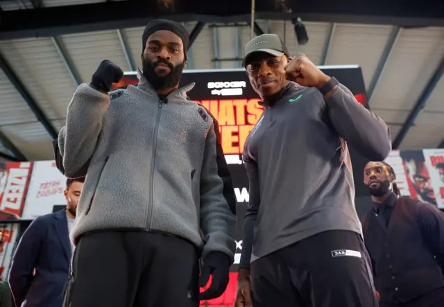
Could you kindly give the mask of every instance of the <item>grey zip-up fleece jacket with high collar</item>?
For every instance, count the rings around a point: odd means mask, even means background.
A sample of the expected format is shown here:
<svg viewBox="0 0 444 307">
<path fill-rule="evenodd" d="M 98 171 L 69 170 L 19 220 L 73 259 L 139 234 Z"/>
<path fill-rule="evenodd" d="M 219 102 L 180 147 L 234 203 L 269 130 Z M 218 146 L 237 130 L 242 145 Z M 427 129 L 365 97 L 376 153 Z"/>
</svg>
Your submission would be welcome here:
<svg viewBox="0 0 444 307">
<path fill-rule="evenodd" d="M 233 261 L 235 216 L 212 116 L 187 99 L 194 83 L 160 100 L 139 78 L 109 95 L 80 85 L 69 103 L 58 138 L 65 175 L 87 171 L 71 240 L 99 229 L 162 231 L 203 248 L 203 258 L 223 252 Z"/>
</svg>

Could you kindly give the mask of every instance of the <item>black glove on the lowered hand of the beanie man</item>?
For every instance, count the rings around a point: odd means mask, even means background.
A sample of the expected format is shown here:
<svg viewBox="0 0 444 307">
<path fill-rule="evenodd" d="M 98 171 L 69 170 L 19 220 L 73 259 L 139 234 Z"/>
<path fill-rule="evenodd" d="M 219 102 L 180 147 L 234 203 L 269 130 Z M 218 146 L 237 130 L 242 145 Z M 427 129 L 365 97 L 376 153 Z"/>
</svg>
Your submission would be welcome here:
<svg viewBox="0 0 444 307">
<path fill-rule="evenodd" d="M 199 286 L 205 287 L 210 274 L 212 281 L 210 287 L 200 293 L 200 301 L 220 297 L 228 285 L 230 273 L 230 258 L 223 252 L 211 252 L 203 261 L 202 272 L 200 272 Z"/>
</svg>

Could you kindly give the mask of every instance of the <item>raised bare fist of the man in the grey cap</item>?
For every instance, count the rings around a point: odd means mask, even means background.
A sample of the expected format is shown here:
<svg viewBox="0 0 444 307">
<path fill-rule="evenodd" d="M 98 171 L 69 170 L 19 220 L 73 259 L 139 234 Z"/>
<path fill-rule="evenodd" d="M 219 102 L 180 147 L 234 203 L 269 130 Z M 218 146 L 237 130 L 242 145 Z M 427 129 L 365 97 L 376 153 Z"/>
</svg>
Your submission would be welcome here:
<svg viewBox="0 0 444 307">
<path fill-rule="evenodd" d="M 320 88 L 330 80 L 330 77 L 318 69 L 305 54 L 291 60 L 284 69 L 287 80 L 296 82 L 303 87 Z"/>
</svg>

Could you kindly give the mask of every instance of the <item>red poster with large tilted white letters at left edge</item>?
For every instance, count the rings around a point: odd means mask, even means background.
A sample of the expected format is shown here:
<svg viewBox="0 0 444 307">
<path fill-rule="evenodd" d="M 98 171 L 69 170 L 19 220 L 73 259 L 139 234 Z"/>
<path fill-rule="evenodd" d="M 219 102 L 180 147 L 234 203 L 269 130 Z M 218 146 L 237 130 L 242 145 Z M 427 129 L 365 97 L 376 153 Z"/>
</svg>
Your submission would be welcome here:
<svg viewBox="0 0 444 307">
<path fill-rule="evenodd" d="M 0 220 L 22 218 L 33 162 L 0 162 Z"/>
</svg>

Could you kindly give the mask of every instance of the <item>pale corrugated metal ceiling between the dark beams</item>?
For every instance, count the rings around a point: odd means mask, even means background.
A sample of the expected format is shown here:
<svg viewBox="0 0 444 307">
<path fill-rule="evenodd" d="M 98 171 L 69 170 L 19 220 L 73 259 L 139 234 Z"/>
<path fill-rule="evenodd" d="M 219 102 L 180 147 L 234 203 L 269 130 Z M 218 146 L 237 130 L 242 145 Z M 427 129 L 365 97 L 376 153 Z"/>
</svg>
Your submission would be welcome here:
<svg viewBox="0 0 444 307">
<path fill-rule="evenodd" d="M 90 0 L 46 0 L 44 6 L 60 6 Z M 3 9 L 17 1 L 2 2 Z M 25 1 L 26 3 L 26 1 Z M 185 26 L 191 32 L 196 23 Z M 298 46 L 290 21 L 258 21 L 265 31 L 284 38 L 292 55 L 305 53 L 315 64 L 359 64 L 368 88 L 375 76 L 392 26 L 328 24 L 307 22 L 309 43 Z M 140 66 L 143 28 L 121 29 L 128 42 L 129 56 Z M 285 32 L 285 37 L 284 37 Z M 332 33 L 329 42 L 329 35 Z M 216 40 L 215 40 L 216 39 Z M 116 30 L 78 33 L 57 37 L 74 63 L 80 82 L 89 82 L 101 60 L 107 58 L 128 71 L 130 66 Z M 205 26 L 189 51 L 188 69 L 240 67 L 244 45 L 250 40 L 248 26 Z M 330 48 L 326 48 L 327 45 Z M 58 130 L 65 119 L 67 105 L 76 89 L 66 63 L 60 58 L 51 37 L 3 41 L 0 51 Z M 402 29 L 375 87 L 370 108 L 398 134 L 418 100 L 438 62 L 444 55 L 444 28 Z M 214 59 L 222 59 L 218 62 Z M 223 60 L 228 59 L 228 60 Z M 238 60 L 237 60 L 238 59 Z M 0 130 L 28 159 L 52 159 L 51 138 L 22 96 L 0 71 Z M 427 106 L 409 130 L 401 148 L 434 148 L 444 139 L 444 78 L 441 78 Z M 1 150 L 1 146 L 0 146 Z"/>
</svg>

